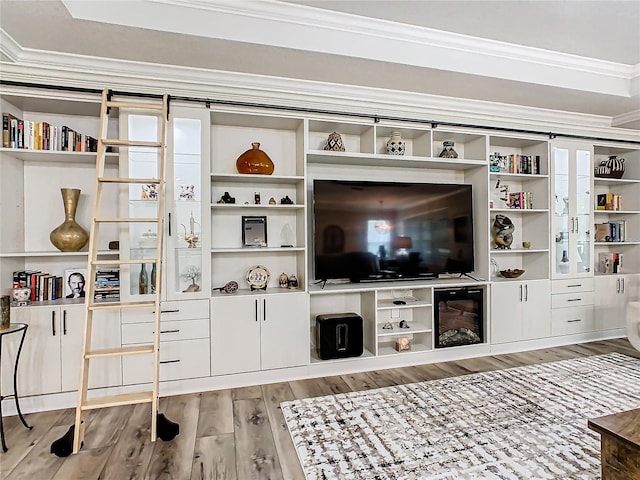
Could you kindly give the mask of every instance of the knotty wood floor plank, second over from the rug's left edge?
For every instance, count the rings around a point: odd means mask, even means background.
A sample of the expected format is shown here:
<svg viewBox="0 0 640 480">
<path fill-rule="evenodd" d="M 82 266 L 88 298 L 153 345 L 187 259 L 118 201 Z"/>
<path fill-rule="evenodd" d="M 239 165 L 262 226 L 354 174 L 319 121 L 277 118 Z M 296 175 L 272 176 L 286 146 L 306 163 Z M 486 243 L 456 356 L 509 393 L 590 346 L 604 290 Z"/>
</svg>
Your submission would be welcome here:
<svg viewBox="0 0 640 480">
<path fill-rule="evenodd" d="M 282 479 L 278 453 L 262 399 L 235 400 L 236 468 L 242 480 Z"/>
</svg>

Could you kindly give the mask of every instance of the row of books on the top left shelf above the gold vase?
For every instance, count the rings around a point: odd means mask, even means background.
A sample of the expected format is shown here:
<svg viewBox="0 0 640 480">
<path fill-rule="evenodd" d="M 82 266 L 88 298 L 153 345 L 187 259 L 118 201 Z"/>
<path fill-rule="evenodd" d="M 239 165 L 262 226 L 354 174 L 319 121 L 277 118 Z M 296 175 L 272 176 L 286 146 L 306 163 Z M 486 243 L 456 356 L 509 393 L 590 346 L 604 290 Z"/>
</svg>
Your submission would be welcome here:
<svg viewBox="0 0 640 480">
<path fill-rule="evenodd" d="M 96 152 L 98 140 L 63 125 L 22 120 L 10 113 L 2 114 L 2 146 L 27 150 Z"/>
</svg>

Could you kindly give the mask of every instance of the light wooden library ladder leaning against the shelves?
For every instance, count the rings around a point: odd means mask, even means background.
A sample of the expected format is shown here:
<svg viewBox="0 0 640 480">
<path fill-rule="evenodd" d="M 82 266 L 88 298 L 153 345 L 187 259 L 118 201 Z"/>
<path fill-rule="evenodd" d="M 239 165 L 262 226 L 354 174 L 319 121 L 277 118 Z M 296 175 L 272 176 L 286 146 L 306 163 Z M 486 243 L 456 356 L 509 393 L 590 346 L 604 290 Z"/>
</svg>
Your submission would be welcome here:
<svg viewBox="0 0 640 480">
<path fill-rule="evenodd" d="M 107 89 L 102 92 L 102 105 L 100 108 L 100 126 L 99 126 L 99 139 L 96 155 L 96 182 L 95 182 L 95 197 L 93 202 L 93 215 L 91 221 L 91 230 L 89 235 L 89 255 L 87 261 L 88 278 L 86 279 L 85 291 L 85 325 L 84 336 L 82 340 L 82 360 L 80 364 L 80 385 L 78 387 L 78 404 L 76 407 L 76 423 L 73 437 L 73 453 L 77 453 L 82 447 L 85 433 L 85 417 L 88 410 L 96 408 L 105 408 L 114 405 L 127 405 L 134 403 L 147 403 L 151 404 L 151 441 L 155 441 L 158 436 L 157 417 L 158 417 L 158 403 L 159 403 L 159 383 L 160 383 L 160 320 L 161 320 L 161 288 L 162 288 L 162 272 L 163 272 L 163 249 L 164 249 L 164 210 L 165 210 L 165 195 L 166 195 L 166 182 L 165 178 L 165 163 L 166 163 L 166 135 L 167 135 L 167 123 L 168 123 L 168 105 L 169 96 L 163 95 L 162 106 L 150 106 L 146 104 L 124 104 L 111 101 L 111 92 Z M 154 115 L 157 112 L 161 112 L 159 117 L 159 132 L 158 142 L 136 142 L 129 140 L 107 140 L 109 109 L 113 106 L 127 106 L 128 108 L 139 108 L 145 110 L 153 110 Z M 152 179 L 136 179 L 130 177 L 122 178 L 109 178 L 105 177 L 105 163 L 106 163 L 106 151 L 107 145 L 122 145 L 122 146 L 135 146 L 142 145 L 147 147 L 153 147 L 157 149 L 157 175 L 158 178 Z M 141 182 L 142 181 L 142 182 Z M 149 218 L 152 223 L 156 223 L 158 235 L 156 244 L 156 256 L 155 259 L 141 259 L 139 261 L 134 260 L 122 260 L 117 261 L 98 261 L 97 250 L 97 238 L 99 235 L 99 228 L 101 223 L 136 223 L 141 220 L 133 220 L 130 218 L 113 218 L 105 219 L 98 216 L 100 199 L 103 193 L 103 185 L 106 183 L 117 184 L 135 184 L 135 183 L 154 183 L 157 184 L 158 189 L 158 201 L 157 201 L 157 216 L 155 218 Z M 150 222 L 150 223 L 151 223 Z M 95 302 L 95 278 L 99 265 L 130 265 L 134 263 L 155 263 L 156 264 L 156 277 L 153 284 L 153 293 L 155 298 L 153 301 L 132 301 L 132 302 L 107 302 L 99 303 Z M 106 350 L 91 350 L 91 340 L 93 331 L 93 315 L 96 310 L 104 309 L 123 309 L 123 308 L 137 308 L 137 307 L 154 307 L 154 339 L 153 345 L 151 345 L 147 351 L 139 351 L 135 348 L 122 348 L 122 349 L 106 349 Z M 88 381 L 89 381 L 89 361 L 92 358 L 99 358 L 102 356 L 124 356 L 129 354 L 138 353 L 152 353 L 153 354 L 153 379 L 152 379 L 152 391 L 137 395 L 120 395 L 116 397 L 105 398 L 104 402 L 100 399 L 88 399 Z M 114 398 L 116 398 L 114 400 Z M 148 400 L 145 400 L 147 399 Z"/>
</svg>

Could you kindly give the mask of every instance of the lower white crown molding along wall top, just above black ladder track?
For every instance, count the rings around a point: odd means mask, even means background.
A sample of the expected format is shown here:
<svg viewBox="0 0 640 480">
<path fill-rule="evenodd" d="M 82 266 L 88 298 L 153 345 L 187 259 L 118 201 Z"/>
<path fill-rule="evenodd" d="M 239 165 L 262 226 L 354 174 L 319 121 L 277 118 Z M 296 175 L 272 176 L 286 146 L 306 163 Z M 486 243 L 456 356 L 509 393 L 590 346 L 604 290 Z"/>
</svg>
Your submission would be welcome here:
<svg viewBox="0 0 640 480">
<path fill-rule="evenodd" d="M 500 122 L 514 127 L 611 127 L 611 117 L 354 85 L 151 64 L 23 49 L 17 64 L 1 64 L 2 78 L 26 83 L 169 92 L 215 98 L 408 118 Z M 603 130 L 603 131 L 604 131 Z"/>
</svg>

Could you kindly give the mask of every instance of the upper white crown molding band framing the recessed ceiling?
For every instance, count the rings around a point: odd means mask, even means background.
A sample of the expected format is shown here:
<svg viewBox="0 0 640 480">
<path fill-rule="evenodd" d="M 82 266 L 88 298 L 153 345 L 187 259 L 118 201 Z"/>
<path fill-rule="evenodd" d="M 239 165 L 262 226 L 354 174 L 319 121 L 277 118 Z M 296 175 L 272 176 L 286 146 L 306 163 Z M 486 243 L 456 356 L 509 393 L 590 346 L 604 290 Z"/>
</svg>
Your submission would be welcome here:
<svg viewBox="0 0 640 480">
<path fill-rule="evenodd" d="M 640 66 L 275 0 L 63 0 L 77 19 L 628 97 Z"/>
</svg>

